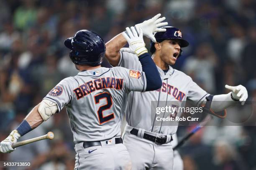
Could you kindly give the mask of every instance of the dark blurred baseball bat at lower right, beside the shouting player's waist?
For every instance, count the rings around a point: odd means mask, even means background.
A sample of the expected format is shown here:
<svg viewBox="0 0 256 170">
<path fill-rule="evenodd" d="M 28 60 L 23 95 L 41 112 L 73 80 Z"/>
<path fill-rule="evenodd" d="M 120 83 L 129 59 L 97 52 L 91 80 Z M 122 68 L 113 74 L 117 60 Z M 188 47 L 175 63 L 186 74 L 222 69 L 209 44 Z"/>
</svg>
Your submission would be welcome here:
<svg viewBox="0 0 256 170">
<path fill-rule="evenodd" d="M 207 122 L 209 122 L 209 120 L 211 120 L 211 119 L 212 119 L 212 116 L 207 115 L 205 117 L 205 119 L 199 125 L 197 125 L 193 130 L 191 130 L 191 132 L 189 134 L 184 136 L 182 138 L 182 140 L 179 141 L 179 143 L 173 148 L 173 150 L 177 150 L 179 147 L 181 147 L 185 143 L 186 140 L 191 138 L 191 136 L 194 135 L 198 130 L 202 129 L 202 127 L 204 127 L 207 124 Z"/>
</svg>

